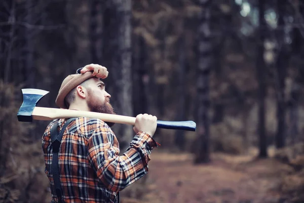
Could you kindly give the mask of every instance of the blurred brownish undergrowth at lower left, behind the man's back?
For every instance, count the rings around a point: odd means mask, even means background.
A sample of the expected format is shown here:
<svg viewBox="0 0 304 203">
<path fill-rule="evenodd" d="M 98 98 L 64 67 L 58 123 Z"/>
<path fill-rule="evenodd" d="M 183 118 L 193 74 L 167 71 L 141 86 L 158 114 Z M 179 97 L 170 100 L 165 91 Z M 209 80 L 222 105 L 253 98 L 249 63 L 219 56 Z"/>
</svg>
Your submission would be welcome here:
<svg viewBox="0 0 304 203">
<path fill-rule="evenodd" d="M 0 80 L 0 202 L 44 202 L 45 180 L 41 142 L 33 140 L 33 125 L 17 121 L 20 87 Z"/>
</svg>

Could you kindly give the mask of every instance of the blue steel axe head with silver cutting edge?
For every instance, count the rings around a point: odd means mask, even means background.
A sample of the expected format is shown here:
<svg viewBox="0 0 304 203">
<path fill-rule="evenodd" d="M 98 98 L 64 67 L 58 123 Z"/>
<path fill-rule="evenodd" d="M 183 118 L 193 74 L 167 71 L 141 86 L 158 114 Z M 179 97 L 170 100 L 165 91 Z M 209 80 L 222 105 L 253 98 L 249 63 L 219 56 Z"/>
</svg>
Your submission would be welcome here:
<svg viewBox="0 0 304 203">
<path fill-rule="evenodd" d="M 49 93 L 42 89 L 22 89 L 23 103 L 17 113 L 18 121 L 32 122 L 32 113 L 39 100 Z"/>
</svg>

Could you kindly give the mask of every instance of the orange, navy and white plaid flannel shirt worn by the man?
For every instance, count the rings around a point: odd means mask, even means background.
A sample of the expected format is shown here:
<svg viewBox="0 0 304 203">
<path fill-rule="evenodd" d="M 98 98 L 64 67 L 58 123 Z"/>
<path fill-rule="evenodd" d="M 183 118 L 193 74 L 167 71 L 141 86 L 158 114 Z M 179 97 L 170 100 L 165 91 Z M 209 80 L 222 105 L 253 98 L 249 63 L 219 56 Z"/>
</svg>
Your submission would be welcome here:
<svg viewBox="0 0 304 203">
<path fill-rule="evenodd" d="M 52 202 L 57 201 L 52 176 L 50 130 L 66 119 L 53 120 L 45 130 L 42 147 Z M 120 155 L 119 142 L 100 119 L 80 117 L 66 128 L 59 151 L 59 173 L 65 202 L 116 202 L 117 193 L 148 172 L 150 153 L 157 143 L 139 131 Z"/>
</svg>

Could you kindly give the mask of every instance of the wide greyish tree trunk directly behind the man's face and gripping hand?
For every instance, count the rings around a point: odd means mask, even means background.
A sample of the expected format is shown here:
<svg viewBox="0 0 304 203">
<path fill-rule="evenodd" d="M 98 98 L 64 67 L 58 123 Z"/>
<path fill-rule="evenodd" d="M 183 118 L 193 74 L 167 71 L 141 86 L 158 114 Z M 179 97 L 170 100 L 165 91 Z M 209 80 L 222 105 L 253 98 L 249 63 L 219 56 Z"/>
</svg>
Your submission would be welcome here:
<svg viewBox="0 0 304 203">
<path fill-rule="evenodd" d="M 104 16 L 104 64 L 109 71 L 111 102 L 120 115 L 133 115 L 131 77 L 131 0 L 108 2 Z M 107 83 L 108 84 L 108 83 Z M 108 88 L 109 87 L 109 88 Z M 122 151 L 134 136 L 132 126 L 113 126 Z"/>
</svg>

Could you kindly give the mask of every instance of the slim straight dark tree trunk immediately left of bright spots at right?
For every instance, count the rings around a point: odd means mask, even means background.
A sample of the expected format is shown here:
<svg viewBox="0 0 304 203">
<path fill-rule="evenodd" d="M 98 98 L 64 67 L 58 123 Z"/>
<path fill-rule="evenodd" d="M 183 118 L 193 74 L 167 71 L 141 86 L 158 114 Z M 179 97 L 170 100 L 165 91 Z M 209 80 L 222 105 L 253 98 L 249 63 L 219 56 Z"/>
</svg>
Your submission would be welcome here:
<svg viewBox="0 0 304 203">
<path fill-rule="evenodd" d="M 264 18 L 265 2 L 259 0 L 259 30 L 258 30 L 258 46 L 257 46 L 257 81 L 258 81 L 258 134 L 259 134 L 259 157 L 265 158 L 267 154 L 267 137 L 265 132 L 265 96 L 266 96 L 266 73 L 265 61 L 264 61 L 264 41 L 265 41 L 265 29 L 266 22 Z"/>
</svg>

